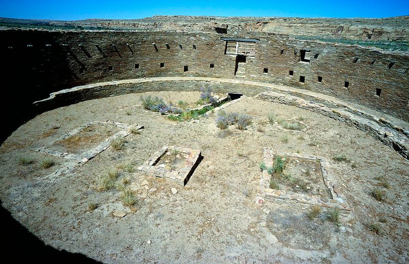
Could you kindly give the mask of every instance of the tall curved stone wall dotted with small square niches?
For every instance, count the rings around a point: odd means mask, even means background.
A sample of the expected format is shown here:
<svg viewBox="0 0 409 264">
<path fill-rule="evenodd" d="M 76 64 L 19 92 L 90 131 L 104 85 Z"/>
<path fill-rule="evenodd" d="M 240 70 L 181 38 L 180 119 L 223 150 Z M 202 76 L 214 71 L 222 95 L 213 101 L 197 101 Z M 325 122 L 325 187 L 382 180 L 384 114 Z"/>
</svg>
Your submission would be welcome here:
<svg viewBox="0 0 409 264">
<path fill-rule="evenodd" d="M 257 32 L 3 30 L 0 36 L 4 40 L 3 79 L 24 76 L 21 90 L 13 89 L 11 81 L 5 88 L 9 95 L 27 93 L 27 100 L 100 81 L 161 76 L 238 78 L 234 75 L 237 58 L 225 55 L 223 36 L 259 40 L 255 56 L 247 57 L 243 64 L 245 80 L 312 90 L 409 121 L 406 55 Z"/>
</svg>

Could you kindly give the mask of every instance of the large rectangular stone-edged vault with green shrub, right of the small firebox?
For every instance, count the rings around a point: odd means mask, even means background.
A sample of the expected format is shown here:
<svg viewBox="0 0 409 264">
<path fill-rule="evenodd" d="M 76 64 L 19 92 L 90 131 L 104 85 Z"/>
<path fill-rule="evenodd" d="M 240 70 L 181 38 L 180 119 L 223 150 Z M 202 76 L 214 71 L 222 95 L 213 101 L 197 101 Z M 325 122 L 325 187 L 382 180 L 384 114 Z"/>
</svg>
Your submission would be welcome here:
<svg viewBox="0 0 409 264">
<path fill-rule="evenodd" d="M 310 206 L 318 205 L 327 209 L 338 209 L 339 213 L 343 216 L 350 214 L 352 209 L 347 204 L 345 196 L 334 183 L 333 179 L 328 177 L 326 169 L 327 162 L 316 157 L 303 157 L 298 154 L 276 154 L 271 148 L 264 148 L 263 162 L 267 167 L 273 165 L 276 157 L 285 157 L 287 160 L 290 160 L 290 162 L 298 163 L 299 165 L 290 165 L 290 170 L 292 170 L 292 173 L 295 173 L 295 170 L 300 170 L 300 174 L 304 173 L 304 175 L 306 171 L 305 167 L 302 169 L 302 165 L 319 164 L 315 167 L 313 166 L 313 172 L 308 172 L 308 176 L 315 179 L 314 182 L 310 184 L 312 193 L 309 191 L 309 188 L 308 191 L 296 191 L 288 187 L 272 189 L 270 188 L 271 176 L 267 173 L 267 170 L 263 170 L 261 172 L 259 189 L 257 190 L 256 205 L 263 206 L 266 201 L 291 204 L 300 209 L 308 209 Z"/>
</svg>

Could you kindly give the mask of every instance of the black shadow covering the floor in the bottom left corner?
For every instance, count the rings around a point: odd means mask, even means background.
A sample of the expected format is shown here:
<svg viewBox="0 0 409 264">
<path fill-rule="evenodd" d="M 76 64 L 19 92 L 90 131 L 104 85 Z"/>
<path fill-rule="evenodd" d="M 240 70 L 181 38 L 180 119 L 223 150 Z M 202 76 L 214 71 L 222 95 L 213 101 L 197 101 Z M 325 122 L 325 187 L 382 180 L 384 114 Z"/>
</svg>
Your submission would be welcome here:
<svg viewBox="0 0 409 264">
<path fill-rule="evenodd" d="M 1 200 L 0 200 L 1 203 Z M 18 223 L 10 213 L 0 206 L 3 256 L 12 256 L 12 262 L 41 263 L 100 263 L 80 253 L 70 253 L 45 245 L 40 239 L 30 233 L 27 228 Z"/>
</svg>

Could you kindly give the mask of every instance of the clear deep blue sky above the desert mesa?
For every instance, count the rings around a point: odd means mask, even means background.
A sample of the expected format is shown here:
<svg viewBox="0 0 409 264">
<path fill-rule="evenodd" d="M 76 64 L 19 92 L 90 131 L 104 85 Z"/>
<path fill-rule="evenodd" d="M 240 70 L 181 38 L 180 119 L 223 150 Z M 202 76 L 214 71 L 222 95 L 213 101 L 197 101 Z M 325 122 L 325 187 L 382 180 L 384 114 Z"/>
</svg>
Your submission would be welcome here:
<svg viewBox="0 0 409 264">
<path fill-rule="evenodd" d="M 153 15 L 390 17 L 409 15 L 409 0 L 0 0 L 0 17 L 77 20 L 135 19 Z"/>
</svg>

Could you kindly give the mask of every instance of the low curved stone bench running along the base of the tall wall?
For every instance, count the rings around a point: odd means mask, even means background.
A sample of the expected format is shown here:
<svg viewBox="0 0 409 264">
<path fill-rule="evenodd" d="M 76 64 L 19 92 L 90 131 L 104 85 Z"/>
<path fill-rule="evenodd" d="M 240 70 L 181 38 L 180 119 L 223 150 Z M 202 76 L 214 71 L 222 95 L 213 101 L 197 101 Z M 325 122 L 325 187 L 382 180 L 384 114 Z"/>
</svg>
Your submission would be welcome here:
<svg viewBox="0 0 409 264">
<path fill-rule="evenodd" d="M 362 108 L 352 106 L 320 93 L 288 88 L 267 83 L 219 78 L 145 78 L 97 83 L 66 89 L 51 94 L 47 99 L 35 102 L 35 107 L 47 111 L 58 106 L 84 100 L 109 97 L 142 91 L 198 91 L 200 87 L 217 87 L 219 92 L 238 92 L 256 96 L 269 102 L 297 106 L 318 112 L 344 122 L 361 131 L 368 132 L 375 139 L 395 149 L 409 159 L 409 129 L 395 124 L 382 116 L 370 114 Z M 269 91 L 265 91 L 269 90 Z M 230 103 L 236 102 L 232 101 Z M 229 103 L 228 103 L 229 104 Z M 226 105 L 222 105 L 225 107 Z"/>
</svg>

